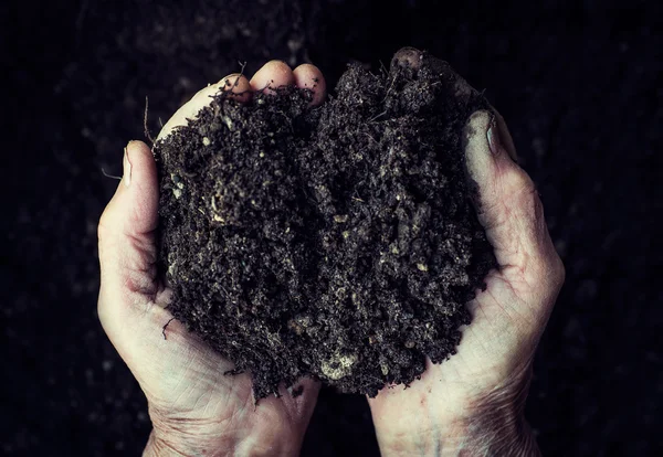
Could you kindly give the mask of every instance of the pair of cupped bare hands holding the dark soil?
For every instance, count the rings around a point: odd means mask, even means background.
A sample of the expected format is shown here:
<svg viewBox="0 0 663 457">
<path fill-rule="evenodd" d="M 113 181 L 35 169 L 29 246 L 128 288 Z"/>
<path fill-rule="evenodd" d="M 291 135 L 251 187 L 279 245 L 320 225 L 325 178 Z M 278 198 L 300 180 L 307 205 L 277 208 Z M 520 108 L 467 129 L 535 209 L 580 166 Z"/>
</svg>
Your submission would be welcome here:
<svg viewBox="0 0 663 457">
<path fill-rule="evenodd" d="M 418 65 L 420 53 L 399 51 L 392 64 Z M 459 79 L 459 89 L 473 91 Z M 266 63 L 251 79 L 230 75 L 183 105 L 159 139 L 210 104 L 219 91 L 248 100 L 254 91 L 284 85 L 325 97 L 314 65 L 291 70 Z M 478 185 L 475 209 L 499 268 L 467 306 L 457 353 L 442 364 L 428 361 L 408 389 L 387 386 L 368 398 L 383 456 L 538 455 L 523 416 L 532 363 L 559 289 L 564 266 L 550 241 L 541 202 L 527 173 L 514 161 L 513 141 L 494 110 L 474 113 L 465 127 L 469 179 Z M 170 290 L 157 274 L 159 185 L 150 148 L 130 141 L 124 176 L 98 226 L 98 315 L 108 338 L 147 396 L 152 432 L 146 456 L 291 456 L 299 453 L 319 383 L 299 381 L 301 396 L 254 404 L 249 373 L 225 375 L 221 358 L 166 309 Z"/>
</svg>

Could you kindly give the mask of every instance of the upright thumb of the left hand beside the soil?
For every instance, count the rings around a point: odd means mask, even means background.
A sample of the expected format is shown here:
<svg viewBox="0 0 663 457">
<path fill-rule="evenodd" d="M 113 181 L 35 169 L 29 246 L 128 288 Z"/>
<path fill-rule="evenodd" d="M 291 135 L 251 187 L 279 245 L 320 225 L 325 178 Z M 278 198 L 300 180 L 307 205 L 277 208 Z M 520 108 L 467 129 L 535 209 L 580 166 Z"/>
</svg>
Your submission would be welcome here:
<svg viewBox="0 0 663 457">
<path fill-rule="evenodd" d="M 151 150 L 141 141 L 130 141 L 123 166 L 123 179 L 98 225 L 98 311 L 104 327 L 109 323 L 109 306 L 151 304 L 160 290 L 155 242 L 159 190 Z"/>
</svg>

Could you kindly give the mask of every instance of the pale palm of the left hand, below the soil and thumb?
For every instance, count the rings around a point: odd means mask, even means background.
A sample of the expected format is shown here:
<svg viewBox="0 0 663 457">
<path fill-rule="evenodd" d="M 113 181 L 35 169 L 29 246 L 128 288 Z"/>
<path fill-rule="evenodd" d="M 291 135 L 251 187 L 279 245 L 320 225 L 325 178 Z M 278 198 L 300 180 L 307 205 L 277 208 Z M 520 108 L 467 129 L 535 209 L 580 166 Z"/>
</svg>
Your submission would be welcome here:
<svg viewBox="0 0 663 457">
<path fill-rule="evenodd" d="M 218 444 L 223 444 L 229 428 L 246 431 L 261 444 L 275 438 L 297 443 L 305 426 L 297 418 L 303 411 L 313 410 L 317 385 L 304 381 L 302 396 L 272 396 L 255 405 L 249 374 L 225 375 L 232 363 L 176 320 L 162 332 L 170 315 L 159 300 L 168 295 L 165 290 L 157 302 L 146 304 L 146 312 L 137 317 L 143 321 L 116 327 L 104 320 L 109 338 L 147 396 L 155 427 L 188 424 Z"/>
</svg>

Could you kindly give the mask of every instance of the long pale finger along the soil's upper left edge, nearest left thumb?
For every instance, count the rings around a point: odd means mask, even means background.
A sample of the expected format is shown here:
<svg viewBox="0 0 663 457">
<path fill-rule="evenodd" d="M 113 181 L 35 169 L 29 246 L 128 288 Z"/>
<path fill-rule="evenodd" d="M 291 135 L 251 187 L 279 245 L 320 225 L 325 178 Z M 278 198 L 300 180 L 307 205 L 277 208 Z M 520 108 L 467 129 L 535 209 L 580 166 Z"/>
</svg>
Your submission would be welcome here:
<svg viewBox="0 0 663 457">
<path fill-rule="evenodd" d="M 228 75 L 219 83 L 199 91 L 189 102 L 182 105 L 161 128 L 157 141 L 170 135 L 173 128 L 186 126 L 189 120 L 196 119 L 198 113 L 209 106 L 212 103 L 212 97 L 220 91 L 230 92 L 232 97 L 239 102 L 248 102 L 251 98 L 251 85 L 246 76 L 236 73 Z"/>
</svg>

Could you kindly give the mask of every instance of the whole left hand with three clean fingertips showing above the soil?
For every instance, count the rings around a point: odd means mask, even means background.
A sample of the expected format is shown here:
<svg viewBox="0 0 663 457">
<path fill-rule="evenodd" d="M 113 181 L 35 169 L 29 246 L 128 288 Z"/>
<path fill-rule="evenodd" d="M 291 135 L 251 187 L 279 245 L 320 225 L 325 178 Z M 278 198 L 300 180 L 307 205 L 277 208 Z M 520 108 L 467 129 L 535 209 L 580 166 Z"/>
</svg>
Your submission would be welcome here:
<svg viewBox="0 0 663 457">
<path fill-rule="evenodd" d="M 324 98 L 325 83 L 315 66 L 293 72 L 272 61 L 251 82 L 231 75 L 200 91 L 172 116 L 159 139 L 186 125 L 220 89 L 245 100 L 251 91 L 291 84 L 312 88 L 314 104 Z M 147 396 L 154 429 L 144 455 L 298 454 L 319 385 L 303 380 L 303 395 L 293 398 L 282 387 L 281 397 L 263 398 L 255 406 L 249 374 L 224 375 L 233 368 L 230 361 L 182 323 L 170 322 L 165 309 L 170 290 L 156 269 L 158 194 L 152 153 L 145 144 L 131 141 L 125 150 L 123 180 L 98 226 L 98 315 Z"/>
</svg>

